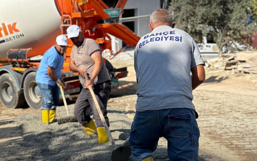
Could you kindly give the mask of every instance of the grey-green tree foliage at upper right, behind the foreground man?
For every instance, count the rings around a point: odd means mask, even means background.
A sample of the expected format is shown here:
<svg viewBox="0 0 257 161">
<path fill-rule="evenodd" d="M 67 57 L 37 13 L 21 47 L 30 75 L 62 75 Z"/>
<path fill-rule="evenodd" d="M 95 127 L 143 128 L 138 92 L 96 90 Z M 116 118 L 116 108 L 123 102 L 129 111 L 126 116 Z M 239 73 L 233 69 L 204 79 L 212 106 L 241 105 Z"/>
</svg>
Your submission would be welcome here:
<svg viewBox="0 0 257 161">
<path fill-rule="evenodd" d="M 247 37 L 257 31 L 257 0 L 171 0 L 169 12 L 176 28 L 190 34 L 196 42 L 202 41 L 202 35 L 212 35 L 219 51 L 231 42 L 248 44 Z M 247 12 L 247 8 L 250 12 Z M 248 44 L 249 46 L 249 44 Z"/>
</svg>

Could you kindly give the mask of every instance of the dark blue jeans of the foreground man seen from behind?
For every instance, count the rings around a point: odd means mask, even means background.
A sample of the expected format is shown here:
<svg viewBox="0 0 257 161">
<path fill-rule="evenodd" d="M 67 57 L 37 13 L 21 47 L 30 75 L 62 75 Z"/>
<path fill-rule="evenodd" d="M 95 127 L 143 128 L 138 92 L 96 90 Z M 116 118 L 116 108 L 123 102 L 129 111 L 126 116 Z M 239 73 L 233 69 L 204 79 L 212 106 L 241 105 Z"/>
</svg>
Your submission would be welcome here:
<svg viewBox="0 0 257 161">
<path fill-rule="evenodd" d="M 135 161 L 152 157 L 160 137 L 168 140 L 172 161 L 198 161 L 200 131 L 195 110 L 172 108 L 135 113 L 128 146 Z"/>
</svg>

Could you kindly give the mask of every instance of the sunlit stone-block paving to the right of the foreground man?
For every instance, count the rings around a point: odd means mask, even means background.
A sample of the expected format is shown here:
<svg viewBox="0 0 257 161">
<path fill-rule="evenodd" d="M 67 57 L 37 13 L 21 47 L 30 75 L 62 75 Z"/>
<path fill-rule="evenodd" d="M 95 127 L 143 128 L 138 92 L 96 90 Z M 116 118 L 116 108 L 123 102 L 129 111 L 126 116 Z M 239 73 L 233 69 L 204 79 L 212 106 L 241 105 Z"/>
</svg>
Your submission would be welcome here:
<svg viewBox="0 0 257 161">
<path fill-rule="evenodd" d="M 201 133 L 240 160 L 257 160 L 257 97 L 208 90 L 196 90 L 194 96 Z"/>
</svg>

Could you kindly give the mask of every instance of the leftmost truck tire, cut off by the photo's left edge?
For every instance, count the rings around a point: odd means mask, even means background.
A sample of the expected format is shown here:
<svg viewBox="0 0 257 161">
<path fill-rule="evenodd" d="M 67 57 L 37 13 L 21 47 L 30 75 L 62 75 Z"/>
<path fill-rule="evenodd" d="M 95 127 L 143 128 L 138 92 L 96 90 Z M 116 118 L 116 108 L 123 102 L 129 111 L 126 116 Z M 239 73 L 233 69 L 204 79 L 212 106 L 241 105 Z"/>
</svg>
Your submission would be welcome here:
<svg viewBox="0 0 257 161">
<path fill-rule="evenodd" d="M 6 108 L 19 108 L 25 103 L 23 90 L 17 90 L 10 73 L 0 76 L 0 100 Z"/>
</svg>

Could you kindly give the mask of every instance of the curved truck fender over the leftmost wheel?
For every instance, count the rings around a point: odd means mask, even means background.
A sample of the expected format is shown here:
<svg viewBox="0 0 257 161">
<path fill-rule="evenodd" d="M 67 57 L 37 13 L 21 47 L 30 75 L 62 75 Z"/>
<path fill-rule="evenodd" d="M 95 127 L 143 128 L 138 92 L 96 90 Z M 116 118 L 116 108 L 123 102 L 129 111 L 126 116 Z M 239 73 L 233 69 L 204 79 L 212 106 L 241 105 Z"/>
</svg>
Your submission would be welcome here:
<svg viewBox="0 0 257 161">
<path fill-rule="evenodd" d="M 11 76 L 14 78 L 17 90 L 20 91 L 21 90 L 20 84 L 21 84 L 22 74 L 12 70 L 11 65 L 3 66 L 3 67 L 0 68 L 0 75 L 2 75 L 4 73 L 10 73 L 11 74 Z"/>
</svg>

